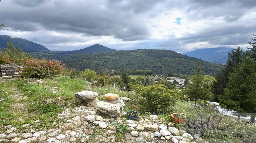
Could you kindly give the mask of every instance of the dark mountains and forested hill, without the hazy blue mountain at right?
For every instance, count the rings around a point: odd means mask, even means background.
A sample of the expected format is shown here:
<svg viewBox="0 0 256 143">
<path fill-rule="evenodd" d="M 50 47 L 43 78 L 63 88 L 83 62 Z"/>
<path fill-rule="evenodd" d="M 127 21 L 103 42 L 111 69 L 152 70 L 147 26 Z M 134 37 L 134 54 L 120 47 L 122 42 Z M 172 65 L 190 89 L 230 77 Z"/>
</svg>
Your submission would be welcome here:
<svg viewBox="0 0 256 143">
<path fill-rule="evenodd" d="M 91 70 L 152 70 L 155 74 L 182 74 L 191 75 L 193 69 L 197 66 L 199 59 L 189 57 L 171 50 L 153 50 L 153 49 L 138 49 L 138 50 L 121 50 L 110 49 L 108 47 L 95 44 L 84 49 L 56 52 L 50 51 L 40 44 L 21 38 L 11 38 L 10 36 L 1 35 L 0 43 L 6 43 L 12 40 L 15 46 L 17 44 L 25 51 L 30 53 L 35 58 L 48 58 L 63 61 L 66 67 L 76 68 L 83 71 L 84 69 Z M 2 48 L 6 45 L 3 44 Z M 202 52 L 207 54 L 207 52 Z M 212 54 L 211 54 L 212 55 Z M 209 63 L 202 61 L 204 72 L 207 75 L 215 75 L 220 64 Z"/>
</svg>

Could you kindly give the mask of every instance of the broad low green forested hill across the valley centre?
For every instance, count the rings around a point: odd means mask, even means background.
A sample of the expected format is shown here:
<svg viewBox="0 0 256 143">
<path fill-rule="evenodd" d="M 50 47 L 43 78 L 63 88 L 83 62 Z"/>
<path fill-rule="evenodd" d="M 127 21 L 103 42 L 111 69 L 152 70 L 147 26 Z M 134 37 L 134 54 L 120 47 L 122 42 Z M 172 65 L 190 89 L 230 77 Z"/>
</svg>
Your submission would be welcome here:
<svg viewBox="0 0 256 143">
<path fill-rule="evenodd" d="M 91 70 L 153 70 L 155 74 L 176 73 L 194 74 L 193 69 L 199 59 L 182 55 L 171 50 L 122 50 L 108 53 L 70 55 L 61 59 L 67 67 L 80 71 Z M 216 74 L 222 67 L 220 64 L 202 61 L 203 70 L 207 75 Z"/>
</svg>

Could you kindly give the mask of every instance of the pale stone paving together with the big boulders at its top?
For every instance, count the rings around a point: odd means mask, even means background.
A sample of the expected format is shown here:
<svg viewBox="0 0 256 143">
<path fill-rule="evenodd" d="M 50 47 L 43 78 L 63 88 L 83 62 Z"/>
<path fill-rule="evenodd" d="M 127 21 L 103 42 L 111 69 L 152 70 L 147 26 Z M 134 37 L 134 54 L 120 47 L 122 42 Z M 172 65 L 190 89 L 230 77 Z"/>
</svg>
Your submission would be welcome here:
<svg viewBox="0 0 256 143">
<path fill-rule="evenodd" d="M 106 101 L 97 101 L 99 93 L 83 91 L 75 94 L 77 101 L 86 101 L 87 106 L 68 108 L 61 114 L 56 115 L 61 122 L 53 123 L 56 127 L 49 130 L 37 130 L 24 124 L 22 127 L 30 127 L 30 132 L 22 132 L 19 127 L 12 125 L 5 126 L 4 133 L 0 134 L 0 142 L 6 143 L 87 143 L 90 135 L 94 136 L 94 141 L 113 143 L 116 141 L 116 126 L 126 124 L 128 132 L 124 133 L 124 143 L 188 143 L 196 139 L 197 143 L 207 143 L 200 134 L 186 133 L 186 129 L 176 129 L 172 123 L 167 123 L 164 118 L 157 115 L 147 117 L 139 116 L 138 120 L 127 120 L 119 118 L 125 112 L 124 102 L 117 94 L 106 94 Z M 89 103 L 89 104 L 88 104 Z M 91 105 L 91 106 L 88 106 Z M 106 114 L 106 116 L 102 115 Z M 102 116 L 101 116 L 102 115 Z M 34 121 L 41 124 L 41 121 Z M 101 134 L 93 134 L 94 130 L 103 129 Z M 1 131 L 2 132 L 2 131 Z M 182 134 L 181 134 L 182 133 Z M 196 143 L 192 142 L 192 143 Z"/>
</svg>

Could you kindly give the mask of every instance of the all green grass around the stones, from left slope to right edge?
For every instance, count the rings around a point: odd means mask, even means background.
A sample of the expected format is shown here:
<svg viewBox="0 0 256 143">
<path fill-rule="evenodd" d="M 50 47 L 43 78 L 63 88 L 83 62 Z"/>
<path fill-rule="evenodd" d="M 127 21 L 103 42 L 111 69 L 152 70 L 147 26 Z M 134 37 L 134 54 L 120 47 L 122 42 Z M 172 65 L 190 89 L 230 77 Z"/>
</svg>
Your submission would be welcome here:
<svg viewBox="0 0 256 143">
<path fill-rule="evenodd" d="M 90 85 L 80 79 L 70 79 L 63 76 L 57 76 L 52 79 L 43 79 L 42 83 L 35 83 L 32 79 L 14 79 L 10 81 L 0 80 L 0 98 L 5 100 L 0 101 L 0 128 L 6 125 L 13 125 L 17 127 L 18 132 L 29 132 L 32 128 L 37 130 L 50 129 L 53 128 L 53 123 L 64 122 L 55 115 L 59 114 L 61 111 L 68 107 L 78 107 L 80 106 L 72 100 L 75 98 L 74 94 L 80 91 L 88 90 L 87 87 Z M 143 118 L 149 118 L 152 114 L 147 112 L 146 107 L 142 106 L 140 96 L 134 94 L 134 92 L 123 92 L 113 87 L 93 87 L 90 88 L 91 91 L 99 93 L 99 99 L 105 100 L 103 95 L 106 93 L 115 93 L 123 97 L 129 97 L 131 100 L 125 102 L 124 111 L 137 111 L 139 116 Z M 185 113 L 190 118 L 190 129 L 195 126 L 198 128 L 203 121 L 205 127 L 198 129 L 205 140 L 209 142 L 255 142 L 255 131 L 256 126 L 249 124 L 245 127 L 247 121 L 241 120 L 237 122 L 236 118 L 233 117 L 223 117 L 222 114 L 216 112 L 216 110 L 210 110 L 208 108 L 198 108 L 196 111 L 193 109 L 194 101 L 183 102 L 179 100 L 172 111 L 178 113 Z M 167 122 L 172 122 L 172 113 L 161 114 L 159 117 L 165 118 Z M 213 124 L 213 118 L 215 123 Z M 201 119 L 202 116 L 202 119 Z M 207 126 L 208 119 L 210 118 L 209 128 Z M 40 120 L 41 124 L 35 124 L 33 121 Z M 220 122 L 219 128 L 223 129 L 227 125 L 231 124 L 225 130 L 217 129 L 217 123 Z M 243 121 L 243 126 L 242 125 Z M 23 127 L 24 124 L 30 124 L 30 126 Z M 63 128 L 72 129 L 72 126 L 65 126 Z M 189 128 L 187 126 L 187 128 Z M 104 142 L 94 141 L 94 137 L 100 136 L 104 133 L 104 129 L 97 129 L 93 134 L 90 135 L 91 142 Z M 4 133 L 0 130 L 0 134 Z M 227 138 L 223 137 L 224 134 L 231 134 L 232 136 L 242 135 L 242 138 Z M 115 134 L 116 141 L 122 141 L 123 135 L 120 133 Z M 216 140 L 216 141 L 215 141 Z"/>
</svg>

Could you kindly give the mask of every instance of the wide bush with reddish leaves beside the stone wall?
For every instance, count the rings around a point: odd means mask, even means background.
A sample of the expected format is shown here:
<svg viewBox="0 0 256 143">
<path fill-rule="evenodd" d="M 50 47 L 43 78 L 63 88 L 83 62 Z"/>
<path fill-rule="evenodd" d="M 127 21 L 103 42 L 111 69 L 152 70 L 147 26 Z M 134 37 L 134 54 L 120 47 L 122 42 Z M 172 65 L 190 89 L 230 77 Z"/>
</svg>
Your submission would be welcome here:
<svg viewBox="0 0 256 143">
<path fill-rule="evenodd" d="M 23 60 L 24 74 L 28 78 L 45 78 L 59 75 L 65 69 L 63 64 L 57 61 L 44 61 L 36 59 Z"/>
</svg>

